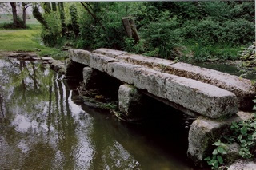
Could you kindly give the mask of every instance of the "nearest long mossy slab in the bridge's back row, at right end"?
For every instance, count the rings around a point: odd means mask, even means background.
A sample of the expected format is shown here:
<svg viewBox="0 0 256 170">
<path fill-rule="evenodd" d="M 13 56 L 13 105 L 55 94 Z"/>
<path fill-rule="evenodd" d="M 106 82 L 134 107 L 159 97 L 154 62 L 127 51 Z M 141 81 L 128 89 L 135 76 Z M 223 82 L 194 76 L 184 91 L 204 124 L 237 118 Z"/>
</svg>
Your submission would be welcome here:
<svg viewBox="0 0 256 170">
<path fill-rule="evenodd" d="M 238 97 L 241 109 L 252 108 L 252 99 L 256 95 L 256 91 L 250 80 L 181 62 L 167 65 L 163 72 L 191 78 L 226 89 Z"/>
</svg>

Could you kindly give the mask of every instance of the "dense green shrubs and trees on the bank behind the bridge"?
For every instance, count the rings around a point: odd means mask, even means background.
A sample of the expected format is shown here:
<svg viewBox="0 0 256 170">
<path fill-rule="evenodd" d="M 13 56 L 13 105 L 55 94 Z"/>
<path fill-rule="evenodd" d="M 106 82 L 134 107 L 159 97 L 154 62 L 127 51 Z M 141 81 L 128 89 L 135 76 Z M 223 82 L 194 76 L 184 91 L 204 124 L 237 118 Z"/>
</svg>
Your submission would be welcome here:
<svg viewBox="0 0 256 170">
<path fill-rule="evenodd" d="M 254 41 L 254 2 L 43 3 L 46 45 L 106 47 L 178 60 L 237 59 Z M 139 41 L 126 36 L 122 18 L 134 19 Z"/>
</svg>

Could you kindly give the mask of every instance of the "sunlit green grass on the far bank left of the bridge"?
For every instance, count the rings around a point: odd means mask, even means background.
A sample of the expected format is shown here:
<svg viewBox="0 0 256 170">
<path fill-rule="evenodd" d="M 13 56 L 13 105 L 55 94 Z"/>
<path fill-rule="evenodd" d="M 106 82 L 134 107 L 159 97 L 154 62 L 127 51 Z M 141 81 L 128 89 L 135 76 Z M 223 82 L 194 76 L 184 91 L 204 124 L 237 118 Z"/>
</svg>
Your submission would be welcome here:
<svg viewBox="0 0 256 170">
<path fill-rule="evenodd" d="M 49 55 L 54 58 L 64 58 L 66 53 L 60 49 L 42 45 L 40 40 L 41 26 L 38 23 L 28 24 L 28 29 L 0 29 L 0 52 L 36 52 L 39 56 Z M 38 52 L 36 49 L 40 49 Z"/>
</svg>

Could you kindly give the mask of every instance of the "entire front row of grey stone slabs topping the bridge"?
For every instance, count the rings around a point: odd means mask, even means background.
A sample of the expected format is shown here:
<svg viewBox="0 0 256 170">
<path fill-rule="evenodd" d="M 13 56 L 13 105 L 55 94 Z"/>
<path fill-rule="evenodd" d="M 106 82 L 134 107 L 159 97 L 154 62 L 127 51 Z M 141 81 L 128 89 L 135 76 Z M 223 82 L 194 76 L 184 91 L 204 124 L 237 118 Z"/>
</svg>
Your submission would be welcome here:
<svg viewBox="0 0 256 170">
<path fill-rule="evenodd" d="M 138 89 L 146 89 L 156 97 L 162 97 L 206 117 L 218 118 L 238 112 L 238 99 L 234 93 L 214 85 L 161 73 L 99 53 L 76 49 L 69 51 L 72 61 L 86 63 L 93 69 L 106 72 L 120 81 Z"/>
</svg>

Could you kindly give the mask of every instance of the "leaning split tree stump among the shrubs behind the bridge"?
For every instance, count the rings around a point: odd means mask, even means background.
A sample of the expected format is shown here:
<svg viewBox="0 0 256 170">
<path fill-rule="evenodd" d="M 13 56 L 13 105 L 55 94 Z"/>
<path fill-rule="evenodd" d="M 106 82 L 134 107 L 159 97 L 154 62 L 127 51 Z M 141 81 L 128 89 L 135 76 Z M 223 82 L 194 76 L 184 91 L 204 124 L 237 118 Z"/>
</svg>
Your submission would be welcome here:
<svg viewBox="0 0 256 170">
<path fill-rule="evenodd" d="M 124 17 L 122 18 L 122 25 L 126 29 L 127 36 L 129 38 L 134 38 L 135 43 L 137 43 L 140 40 L 140 38 L 134 20 L 130 17 Z"/>
</svg>

